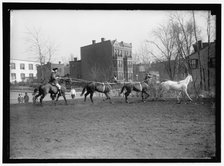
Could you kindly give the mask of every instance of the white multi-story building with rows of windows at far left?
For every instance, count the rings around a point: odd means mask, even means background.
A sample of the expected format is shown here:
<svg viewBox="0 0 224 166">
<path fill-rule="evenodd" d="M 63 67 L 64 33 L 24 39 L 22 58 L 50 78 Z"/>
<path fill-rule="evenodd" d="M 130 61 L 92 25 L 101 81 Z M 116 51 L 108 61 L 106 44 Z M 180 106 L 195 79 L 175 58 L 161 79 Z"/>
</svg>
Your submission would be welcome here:
<svg viewBox="0 0 224 166">
<path fill-rule="evenodd" d="M 10 60 L 10 82 L 27 82 L 36 79 L 39 62 L 19 59 Z"/>
</svg>

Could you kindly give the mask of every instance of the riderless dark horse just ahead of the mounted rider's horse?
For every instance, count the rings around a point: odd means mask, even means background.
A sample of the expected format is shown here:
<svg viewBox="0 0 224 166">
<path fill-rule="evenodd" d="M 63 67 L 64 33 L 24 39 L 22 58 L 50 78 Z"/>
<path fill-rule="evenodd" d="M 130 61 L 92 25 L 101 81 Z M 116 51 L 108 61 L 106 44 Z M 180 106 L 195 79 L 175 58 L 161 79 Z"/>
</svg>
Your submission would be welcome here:
<svg viewBox="0 0 224 166">
<path fill-rule="evenodd" d="M 93 103 L 93 94 L 96 91 L 96 92 L 104 93 L 106 96 L 106 100 L 108 99 L 110 100 L 110 96 L 108 95 L 108 93 L 111 91 L 111 89 L 112 87 L 110 86 L 109 83 L 90 82 L 90 83 L 87 83 L 83 87 L 83 90 L 80 96 L 82 96 L 86 91 L 84 101 L 86 101 L 86 97 L 90 94 L 90 99 L 91 99 L 91 102 Z"/>
</svg>

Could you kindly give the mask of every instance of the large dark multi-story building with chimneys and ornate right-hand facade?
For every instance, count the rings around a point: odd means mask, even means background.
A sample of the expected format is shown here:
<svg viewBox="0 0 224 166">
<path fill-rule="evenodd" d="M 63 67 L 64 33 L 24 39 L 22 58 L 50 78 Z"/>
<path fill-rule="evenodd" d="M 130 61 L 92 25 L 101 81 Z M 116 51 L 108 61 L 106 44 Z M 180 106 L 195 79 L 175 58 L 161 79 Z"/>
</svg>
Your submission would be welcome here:
<svg viewBox="0 0 224 166">
<path fill-rule="evenodd" d="M 107 81 L 116 75 L 118 80 L 133 80 L 132 44 L 105 40 L 92 41 L 81 47 L 81 78 Z"/>
</svg>

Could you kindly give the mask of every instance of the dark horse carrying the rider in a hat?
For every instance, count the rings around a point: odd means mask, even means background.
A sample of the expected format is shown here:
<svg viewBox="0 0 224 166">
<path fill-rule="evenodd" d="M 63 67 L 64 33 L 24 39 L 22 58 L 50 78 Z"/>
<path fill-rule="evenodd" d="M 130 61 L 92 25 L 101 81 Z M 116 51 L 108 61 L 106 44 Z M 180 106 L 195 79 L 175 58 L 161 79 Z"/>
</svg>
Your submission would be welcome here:
<svg viewBox="0 0 224 166">
<path fill-rule="evenodd" d="M 37 91 L 39 91 L 39 93 L 37 95 L 35 95 L 37 93 Z M 55 86 L 55 85 L 52 85 L 50 83 L 46 83 L 44 85 L 40 85 L 39 88 L 37 89 L 34 89 L 34 103 L 36 102 L 36 99 L 40 97 L 40 104 L 42 104 L 42 101 L 44 99 L 44 97 L 50 93 L 51 95 L 51 99 L 54 100 L 55 97 L 56 97 L 56 100 L 55 100 L 55 104 L 56 102 L 58 101 L 58 98 L 60 96 L 63 96 L 64 100 L 65 100 L 65 104 L 67 104 L 67 100 L 66 100 L 66 97 L 65 97 L 65 91 L 66 91 L 66 88 L 64 85 L 61 85 L 61 92 L 58 93 L 58 88 Z"/>
</svg>

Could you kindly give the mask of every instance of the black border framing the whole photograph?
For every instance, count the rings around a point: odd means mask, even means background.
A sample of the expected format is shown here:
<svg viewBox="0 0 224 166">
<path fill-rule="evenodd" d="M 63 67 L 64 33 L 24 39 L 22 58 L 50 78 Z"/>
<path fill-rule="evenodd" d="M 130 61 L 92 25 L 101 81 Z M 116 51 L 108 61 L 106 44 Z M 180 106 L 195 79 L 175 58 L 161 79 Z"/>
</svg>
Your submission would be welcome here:
<svg viewBox="0 0 224 166">
<path fill-rule="evenodd" d="M 221 162 L 221 4 L 2 3 L 3 6 L 3 163 L 214 163 Z M 11 10 L 211 10 L 216 15 L 216 157 L 213 159 L 10 159 Z"/>
</svg>

